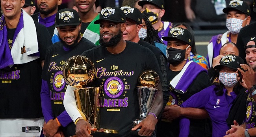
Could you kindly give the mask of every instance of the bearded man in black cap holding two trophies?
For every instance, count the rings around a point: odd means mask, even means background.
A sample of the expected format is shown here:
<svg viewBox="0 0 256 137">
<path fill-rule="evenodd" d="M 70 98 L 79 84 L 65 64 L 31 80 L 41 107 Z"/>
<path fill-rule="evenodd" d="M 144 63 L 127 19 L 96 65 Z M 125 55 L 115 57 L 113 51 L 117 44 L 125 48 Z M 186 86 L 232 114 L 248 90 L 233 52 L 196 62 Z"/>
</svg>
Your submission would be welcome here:
<svg viewBox="0 0 256 137">
<path fill-rule="evenodd" d="M 156 87 L 158 92 L 152 107 L 148 108 L 145 119 L 135 127 L 132 125 L 133 121 L 139 118 L 141 111 L 136 90 L 141 72 L 154 70 L 159 76 L 161 74 L 154 53 L 137 43 L 123 40 L 126 17 L 121 9 L 102 9 L 100 19 L 94 23 L 100 24 L 100 45 L 85 51 L 82 56 L 91 59 L 96 68 L 95 80 L 90 86 L 100 87 L 100 128 L 119 132 L 111 137 L 133 137 L 130 132 L 139 128 L 137 135 L 151 136 L 158 121 L 157 116 L 163 107 L 161 81 Z M 95 128 L 82 119 L 76 106 L 74 89 L 76 88 L 67 87 L 65 109 L 76 123 L 76 135 L 91 137 L 88 129 L 93 131 Z"/>
</svg>

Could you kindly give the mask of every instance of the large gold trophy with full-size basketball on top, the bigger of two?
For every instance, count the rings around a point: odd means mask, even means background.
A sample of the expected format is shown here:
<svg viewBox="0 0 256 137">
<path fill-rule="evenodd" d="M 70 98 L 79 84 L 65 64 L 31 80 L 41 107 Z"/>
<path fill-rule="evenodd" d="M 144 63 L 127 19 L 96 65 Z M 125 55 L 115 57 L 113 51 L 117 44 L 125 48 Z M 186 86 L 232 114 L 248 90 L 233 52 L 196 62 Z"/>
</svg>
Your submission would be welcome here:
<svg viewBox="0 0 256 137">
<path fill-rule="evenodd" d="M 92 135 L 106 136 L 106 133 L 118 133 L 117 130 L 100 128 L 99 108 L 100 108 L 100 88 L 86 87 L 95 78 L 95 67 L 85 56 L 73 56 L 65 62 L 63 66 L 63 78 L 74 90 L 76 105 L 85 115 L 88 121 L 96 130 L 89 131 Z M 76 137 L 76 135 L 72 136 Z"/>
</svg>

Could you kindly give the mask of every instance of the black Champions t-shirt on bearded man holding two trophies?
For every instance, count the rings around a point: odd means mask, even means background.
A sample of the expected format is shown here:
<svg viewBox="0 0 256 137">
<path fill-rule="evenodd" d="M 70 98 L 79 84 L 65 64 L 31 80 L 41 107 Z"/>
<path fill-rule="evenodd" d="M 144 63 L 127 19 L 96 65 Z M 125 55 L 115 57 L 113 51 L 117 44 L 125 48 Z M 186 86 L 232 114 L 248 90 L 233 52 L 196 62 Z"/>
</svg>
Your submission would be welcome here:
<svg viewBox="0 0 256 137">
<path fill-rule="evenodd" d="M 118 130 L 113 137 L 132 137 L 132 122 L 139 118 L 136 87 L 144 70 L 160 69 L 153 52 L 137 43 L 126 41 L 124 51 L 111 54 L 105 47 L 97 46 L 82 54 L 95 64 L 94 84 L 102 90 L 100 127 Z"/>
</svg>

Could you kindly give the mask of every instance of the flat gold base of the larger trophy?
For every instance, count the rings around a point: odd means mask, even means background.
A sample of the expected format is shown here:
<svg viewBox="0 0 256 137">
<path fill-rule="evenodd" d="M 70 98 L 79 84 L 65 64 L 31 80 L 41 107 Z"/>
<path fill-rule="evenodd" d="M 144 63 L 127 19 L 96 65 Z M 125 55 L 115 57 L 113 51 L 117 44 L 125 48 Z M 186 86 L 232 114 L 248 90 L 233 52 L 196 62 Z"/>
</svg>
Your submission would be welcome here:
<svg viewBox="0 0 256 137">
<path fill-rule="evenodd" d="M 91 131 L 91 135 L 93 137 L 112 137 L 113 134 L 118 134 L 117 130 L 109 130 L 105 128 L 96 128 L 95 131 Z M 71 137 L 77 137 L 76 135 L 73 135 Z"/>
</svg>

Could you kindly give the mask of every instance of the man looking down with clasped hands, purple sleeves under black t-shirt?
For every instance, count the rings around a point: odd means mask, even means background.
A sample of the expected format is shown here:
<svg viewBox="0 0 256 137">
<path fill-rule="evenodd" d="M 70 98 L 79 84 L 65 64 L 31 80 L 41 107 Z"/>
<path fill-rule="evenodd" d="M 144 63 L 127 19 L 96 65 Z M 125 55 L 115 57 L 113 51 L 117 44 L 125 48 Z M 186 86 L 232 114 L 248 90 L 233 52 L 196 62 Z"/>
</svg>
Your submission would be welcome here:
<svg viewBox="0 0 256 137">
<path fill-rule="evenodd" d="M 95 44 L 79 34 L 81 21 L 74 9 L 59 10 L 55 27 L 61 41 L 48 48 L 42 73 L 41 105 L 46 123 L 43 130 L 47 137 L 60 133 L 69 137 L 75 134 L 75 125 L 63 106 L 67 83 L 61 69 L 69 57 L 80 55 Z"/>
</svg>

